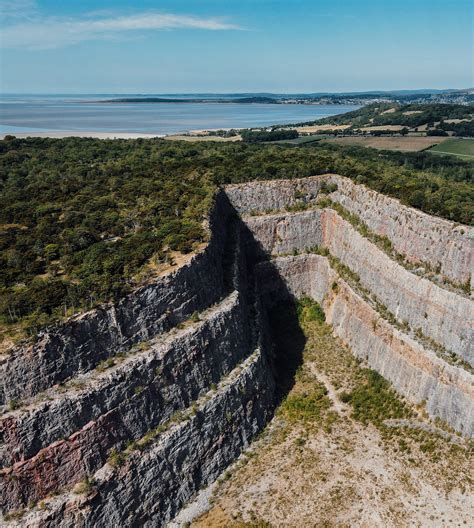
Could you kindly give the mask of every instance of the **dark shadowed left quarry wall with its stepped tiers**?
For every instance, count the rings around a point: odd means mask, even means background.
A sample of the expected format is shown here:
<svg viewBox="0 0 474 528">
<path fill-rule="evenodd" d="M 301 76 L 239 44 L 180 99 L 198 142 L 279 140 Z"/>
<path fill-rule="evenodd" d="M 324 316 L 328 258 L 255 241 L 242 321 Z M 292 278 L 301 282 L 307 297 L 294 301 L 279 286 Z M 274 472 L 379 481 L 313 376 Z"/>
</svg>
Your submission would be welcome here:
<svg viewBox="0 0 474 528">
<path fill-rule="evenodd" d="M 69 508 L 71 496 L 71 504 L 78 498 L 71 494 L 75 484 L 98 482 L 96 474 L 111 468 L 111 456 L 120 458 L 130 450 L 130 445 L 137 445 L 140 446 L 137 453 L 132 449 L 127 454 L 127 472 L 143 472 L 144 479 L 151 478 L 161 474 L 161 464 L 165 463 L 173 473 L 174 480 L 150 482 L 155 494 L 149 500 L 157 501 L 156 506 L 148 508 L 150 522 L 160 526 L 183 501 L 238 456 L 266 423 L 273 408 L 274 381 L 266 363 L 264 334 L 260 331 L 264 314 L 253 291 L 252 270 L 248 269 L 240 243 L 240 224 L 232 217 L 223 194 L 216 203 L 222 218 L 214 223 L 216 233 L 211 234 L 209 246 L 178 271 L 146 287 L 161 292 L 159 296 L 148 297 L 159 308 L 138 304 L 143 300 L 143 290 L 126 300 L 136 306 L 137 317 L 148 321 L 145 327 L 136 326 L 127 347 L 122 342 L 118 349 L 104 346 L 109 355 L 105 364 L 98 364 L 94 357 L 88 368 L 76 372 L 73 379 L 52 387 L 51 381 L 46 380 L 45 390 L 32 391 L 30 397 L 25 397 L 30 392 L 24 391 L 21 408 L 4 412 L 0 419 L 0 508 L 4 513 L 18 511 L 58 493 L 57 502 L 62 500 L 61 504 Z M 199 312 L 197 307 L 201 308 Z M 106 307 L 87 316 L 93 319 L 95 314 L 100 319 L 103 311 L 109 309 L 118 310 Z M 155 324 L 151 314 L 160 319 L 161 312 L 173 322 L 173 328 Z M 81 335 L 75 334 L 79 345 Z M 84 336 L 84 349 L 88 353 L 91 353 L 90 339 Z M 35 350 L 40 357 L 41 349 Z M 249 360 L 250 357 L 253 359 Z M 48 364 L 48 356 L 43 360 L 45 369 L 51 371 L 54 365 Z M 92 369 L 93 364 L 98 367 Z M 27 370 L 29 366 L 25 364 L 23 368 Z M 216 391 L 213 387 L 219 383 L 222 390 Z M 198 412 L 200 406 L 203 410 Z M 225 426 L 222 413 L 229 422 L 224 420 Z M 199 420 L 195 415 L 199 415 Z M 190 428 L 189 420 L 184 420 L 186 426 L 178 429 L 182 435 L 179 446 L 173 444 L 176 435 L 168 442 L 162 441 L 168 429 L 176 428 L 174 424 L 180 421 L 180 416 L 187 416 L 193 427 Z M 213 420 L 217 420 L 215 426 Z M 161 446 L 156 450 L 154 462 L 148 461 L 150 467 L 140 465 L 142 457 L 138 452 L 143 451 L 144 439 L 147 445 Z M 181 465 L 187 443 L 189 461 Z M 176 457 L 173 468 L 171 458 L 164 462 L 160 458 L 165 456 L 163 453 Z M 110 474 L 115 475 L 115 480 L 116 472 Z M 132 484 L 131 489 L 122 489 L 120 493 L 129 493 L 130 503 L 132 495 L 136 495 L 133 500 L 144 504 L 144 488 L 137 492 L 136 482 L 128 482 L 127 486 Z M 104 484 L 107 489 L 110 485 Z M 101 493 L 104 515 L 109 516 L 108 509 L 113 508 L 115 499 L 112 492 Z M 169 512 L 168 516 L 162 508 Z M 32 525 L 72 522 L 61 520 L 64 513 L 61 512 L 58 510 L 54 521 L 52 517 L 50 521 L 44 520 L 44 512 L 33 516 Z M 83 513 L 77 515 L 79 519 Z M 123 509 L 120 515 L 131 524 L 135 523 L 131 519 L 139 516 L 137 510 L 131 509 Z M 106 521 L 97 522 L 94 520 L 94 526 L 110 526 Z"/>
</svg>

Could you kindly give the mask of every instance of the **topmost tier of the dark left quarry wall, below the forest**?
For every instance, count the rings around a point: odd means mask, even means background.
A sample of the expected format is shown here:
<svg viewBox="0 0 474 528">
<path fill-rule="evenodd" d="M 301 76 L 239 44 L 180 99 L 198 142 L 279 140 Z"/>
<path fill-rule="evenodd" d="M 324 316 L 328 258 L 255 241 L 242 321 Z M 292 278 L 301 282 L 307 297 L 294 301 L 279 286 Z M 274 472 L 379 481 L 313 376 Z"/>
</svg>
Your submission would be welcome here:
<svg viewBox="0 0 474 528">
<path fill-rule="evenodd" d="M 210 242 L 189 263 L 117 304 L 78 315 L 11 350 L 0 365 L 0 404 L 32 396 L 169 330 L 225 293 L 223 252 L 231 209 L 217 196 Z"/>
</svg>

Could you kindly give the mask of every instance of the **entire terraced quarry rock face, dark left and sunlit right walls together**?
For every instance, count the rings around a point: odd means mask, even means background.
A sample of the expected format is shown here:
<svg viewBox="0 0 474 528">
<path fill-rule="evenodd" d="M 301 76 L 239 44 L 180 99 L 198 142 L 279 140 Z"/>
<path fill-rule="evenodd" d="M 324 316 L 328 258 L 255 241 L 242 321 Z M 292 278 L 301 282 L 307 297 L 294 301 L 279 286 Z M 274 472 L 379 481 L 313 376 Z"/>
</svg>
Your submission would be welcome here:
<svg viewBox="0 0 474 528">
<path fill-rule="evenodd" d="M 322 190 L 406 263 L 316 208 Z M 401 394 L 474 435 L 473 302 L 439 280 L 470 278 L 472 228 L 329 175 L 228 186 L 209 240 L 176 271 L 4 359 L 0 401 L 22 407 L 0 417 L 0 508 L 57 494 L 18 525 L 168 522 L 291 388 L 298 358 L 272 346 L 272 307 L 303 295 Z M 436 281 L 407 263 L 436 268 Z"/>
</svg>

